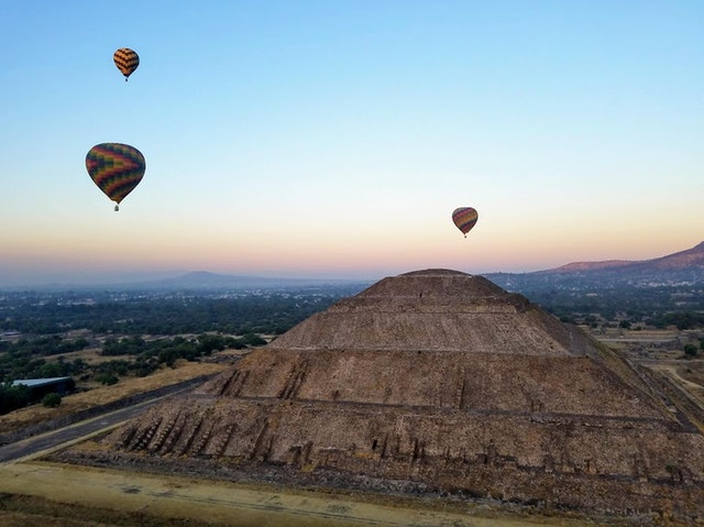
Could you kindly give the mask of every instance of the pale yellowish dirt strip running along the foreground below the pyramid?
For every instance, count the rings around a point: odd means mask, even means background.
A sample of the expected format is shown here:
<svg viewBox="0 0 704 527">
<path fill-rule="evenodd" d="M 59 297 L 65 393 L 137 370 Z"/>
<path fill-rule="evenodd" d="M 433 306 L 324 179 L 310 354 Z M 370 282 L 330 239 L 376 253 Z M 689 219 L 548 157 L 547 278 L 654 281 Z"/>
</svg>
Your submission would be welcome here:
<svg viewBox="0 0 704 527">
<path fill-rule="evenodd" d="M 221 526 L 257 527 L 579 527 L 571 519 L 505 518 L 493 512 L 441 512 L 363 503 L 349 496 L 278 492 L 227 482 L 156 476 L 44 462 L 0 465 L 0 492 L 61 503 Z M 486 514 L 484 514 L 486 513 Z"/>
</svg>

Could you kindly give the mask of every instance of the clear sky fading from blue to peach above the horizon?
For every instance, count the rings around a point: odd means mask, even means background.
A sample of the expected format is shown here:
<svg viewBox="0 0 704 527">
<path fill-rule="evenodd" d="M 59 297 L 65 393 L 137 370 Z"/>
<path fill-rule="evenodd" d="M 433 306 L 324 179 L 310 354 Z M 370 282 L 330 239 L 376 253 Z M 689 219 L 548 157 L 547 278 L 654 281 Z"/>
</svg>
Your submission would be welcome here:
<svg viewBox="0 0 704 527">
<path fill-rule="evenodd" d="M 522 272 L 704 240 L 698 0 L 0 0 L 0 286 Z M 85 167 L 102 142 L 147 163 L 119 212 Z"/>
</svg>

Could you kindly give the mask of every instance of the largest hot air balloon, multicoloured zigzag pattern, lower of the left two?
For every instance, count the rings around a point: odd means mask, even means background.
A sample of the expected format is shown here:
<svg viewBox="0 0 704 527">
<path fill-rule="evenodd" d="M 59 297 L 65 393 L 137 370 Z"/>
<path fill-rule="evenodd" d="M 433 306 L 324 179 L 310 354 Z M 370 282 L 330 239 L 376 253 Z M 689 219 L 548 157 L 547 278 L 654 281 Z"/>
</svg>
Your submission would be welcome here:
<svg viewBox="0 0 704 527">
<path fill-rule="evenodd" d="M 86 168 L 98 188 L 117 205 L 134 190 L 146 169 L 142 153 L 134 146 L 121 143 L 95 145 L 86 155 Z"/>
</svg>

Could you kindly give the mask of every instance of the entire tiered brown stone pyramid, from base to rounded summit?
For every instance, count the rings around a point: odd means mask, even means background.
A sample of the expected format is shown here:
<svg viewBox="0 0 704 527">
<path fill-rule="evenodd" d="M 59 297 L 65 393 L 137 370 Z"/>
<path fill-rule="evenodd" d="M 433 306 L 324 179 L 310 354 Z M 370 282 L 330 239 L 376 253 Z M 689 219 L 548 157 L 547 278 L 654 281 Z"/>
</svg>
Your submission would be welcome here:
<svg viewBox="0 0 704 527">
<path fill-rule="evenodd" d="M 215 460 L 233 479 L 701 516 L 698 417 L 525 297 L 426 270 L 311 316 L 105 442 L 111 459 Z"/>
</svg>

